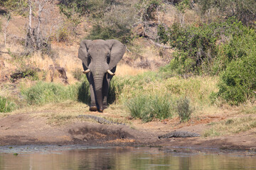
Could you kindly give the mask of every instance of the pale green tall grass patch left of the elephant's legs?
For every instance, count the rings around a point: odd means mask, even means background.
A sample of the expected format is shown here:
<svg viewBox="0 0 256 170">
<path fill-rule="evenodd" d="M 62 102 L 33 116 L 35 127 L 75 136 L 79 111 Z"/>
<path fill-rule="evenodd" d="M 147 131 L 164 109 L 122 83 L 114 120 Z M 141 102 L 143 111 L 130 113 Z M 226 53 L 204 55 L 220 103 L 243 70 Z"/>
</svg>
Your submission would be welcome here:
<svg viewBox="0 0 256 170">
<path fill-rule="evenodd" d="M 78 98 L 78 88 L 76 85 L 64 86 L 62 84 L 38 81 L 35 86 L 21 89 L 21 94 L 29 105 L 43 105 L 68 99 L 75 100 Z"/>
</svg>

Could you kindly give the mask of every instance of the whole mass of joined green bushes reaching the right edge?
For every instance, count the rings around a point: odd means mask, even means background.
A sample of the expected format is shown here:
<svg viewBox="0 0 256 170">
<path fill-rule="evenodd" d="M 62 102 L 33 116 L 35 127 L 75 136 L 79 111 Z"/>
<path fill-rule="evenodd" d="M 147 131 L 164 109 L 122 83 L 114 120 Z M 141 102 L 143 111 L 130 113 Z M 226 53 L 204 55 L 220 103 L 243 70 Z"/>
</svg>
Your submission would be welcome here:
<svg viewBox="0 0 256 170">
<path fill-rule="evenodd" d="M 174 60 L 161 68 L 177 74 L 220 74 L 219 92 L 228 103 L 238 105 L 254 98 L 255 29 L 230 18 L 225 22 L 159 26 L 159 39 L 176 48 Z"/>
</svg>

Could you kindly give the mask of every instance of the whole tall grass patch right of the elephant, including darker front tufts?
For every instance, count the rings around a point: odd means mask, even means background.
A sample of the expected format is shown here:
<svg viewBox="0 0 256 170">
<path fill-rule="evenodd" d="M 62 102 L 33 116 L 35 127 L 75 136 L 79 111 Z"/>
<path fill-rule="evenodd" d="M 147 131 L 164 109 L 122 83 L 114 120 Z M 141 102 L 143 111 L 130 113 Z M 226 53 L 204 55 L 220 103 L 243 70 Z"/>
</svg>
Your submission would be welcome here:
<svg viewBox="0 0 256 170">
<path fill-rule="evenodd" d="M 184 79 L 161 72 L 144 72 L 136 76 L 114 77 L 110 97 L 114 96 L 115 103 L 126 106 L 133 118 L 144 122 L 171 118 L 172 115 L 179 115 L 184 122 L 191 118 L 192 106 L 203 112 L 208 110 L 210 94 L 218 91 L 217 82 L 218 77 Z"/>
</svg>

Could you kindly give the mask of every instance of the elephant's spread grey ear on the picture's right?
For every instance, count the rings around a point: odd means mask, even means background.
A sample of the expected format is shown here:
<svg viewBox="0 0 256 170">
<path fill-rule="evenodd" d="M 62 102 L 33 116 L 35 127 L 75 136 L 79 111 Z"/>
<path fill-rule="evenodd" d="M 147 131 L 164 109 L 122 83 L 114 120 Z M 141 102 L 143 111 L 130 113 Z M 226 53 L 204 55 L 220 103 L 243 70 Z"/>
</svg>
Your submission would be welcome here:
<svg viewBox="0 0 256 170">
<path fill-rule="evenodd" d="M 110 51 L 110 70 L 117 66 L 117 63 L 122 59 L 125 52 L 125 45 L 123 45 L 118 40 L 107 40 L 107 42 L 111 46 Z"/>
</svg>

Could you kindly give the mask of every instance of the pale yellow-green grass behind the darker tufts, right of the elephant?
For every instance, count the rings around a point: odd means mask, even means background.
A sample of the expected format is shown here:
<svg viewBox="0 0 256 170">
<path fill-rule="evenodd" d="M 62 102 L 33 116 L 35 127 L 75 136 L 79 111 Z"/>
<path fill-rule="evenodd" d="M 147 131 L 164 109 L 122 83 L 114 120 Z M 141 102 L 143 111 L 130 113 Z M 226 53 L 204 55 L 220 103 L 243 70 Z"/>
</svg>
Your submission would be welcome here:
<svg viewBox="0 0 256 170">
<path fill-rule="evenodd" d="M 218 77 L 182 77 L 168 76 L 161 72 L 144 72 L 136 76 L 114 77 L 111 91 L 116 91 L 118 103 L 125 103 L 138 94 L 164 96 L 173 98 L 187 96 L 196 106 L 209 105 L 212 92 L 217 92 Z"/>
</svg>

